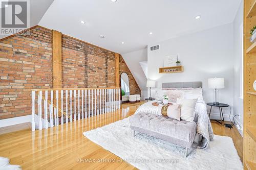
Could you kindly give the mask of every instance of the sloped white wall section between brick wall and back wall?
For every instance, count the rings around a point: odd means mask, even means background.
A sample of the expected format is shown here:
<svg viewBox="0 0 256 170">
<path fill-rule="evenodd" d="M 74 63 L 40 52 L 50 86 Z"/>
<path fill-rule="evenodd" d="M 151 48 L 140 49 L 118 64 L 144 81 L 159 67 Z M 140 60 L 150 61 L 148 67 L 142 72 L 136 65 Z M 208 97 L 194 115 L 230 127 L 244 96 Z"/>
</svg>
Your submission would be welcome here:
<svg viewBox="0 0 256 170">
<path fill-rule="evenodd" d="M 146 76 L 140 66 L 140 62 L 147 60 L 147 48 L 131 53 L 121 54 L 125 63 L 131 70 L 134 79 L 141 89 L 141 99 L 146 98 Z"/>
</svg>

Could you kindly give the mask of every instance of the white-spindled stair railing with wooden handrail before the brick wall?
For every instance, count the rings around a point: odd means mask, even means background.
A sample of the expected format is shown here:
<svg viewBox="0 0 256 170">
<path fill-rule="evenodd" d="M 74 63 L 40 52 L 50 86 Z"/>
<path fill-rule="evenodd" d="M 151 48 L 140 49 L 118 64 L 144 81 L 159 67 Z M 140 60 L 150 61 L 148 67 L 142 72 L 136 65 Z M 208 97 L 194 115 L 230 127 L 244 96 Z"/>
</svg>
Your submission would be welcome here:
<svg viewBox="0 0 256 170">
<path fill-rule="evenodd" d="M 32 89 L 32 131 L 36 127 L 38 130 L 48 129 L 49 126 L 63 125 L 118 109 L 120 88 L 116 87 Z"/>
</svg>

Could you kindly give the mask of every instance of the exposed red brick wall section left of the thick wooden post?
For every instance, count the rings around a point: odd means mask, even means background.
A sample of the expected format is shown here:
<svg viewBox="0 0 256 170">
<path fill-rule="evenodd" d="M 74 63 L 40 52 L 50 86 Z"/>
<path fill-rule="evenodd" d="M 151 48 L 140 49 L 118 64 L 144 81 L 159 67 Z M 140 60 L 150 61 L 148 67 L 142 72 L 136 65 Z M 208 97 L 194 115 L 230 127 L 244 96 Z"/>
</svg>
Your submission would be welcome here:
<svg viewBox="0 0 256 170">
<path fill-rule="evenodd" d="M 52 88 L 52 32 L 0 42 L 0 119 L 31 114 L 32 88 Z"/>
</svg>

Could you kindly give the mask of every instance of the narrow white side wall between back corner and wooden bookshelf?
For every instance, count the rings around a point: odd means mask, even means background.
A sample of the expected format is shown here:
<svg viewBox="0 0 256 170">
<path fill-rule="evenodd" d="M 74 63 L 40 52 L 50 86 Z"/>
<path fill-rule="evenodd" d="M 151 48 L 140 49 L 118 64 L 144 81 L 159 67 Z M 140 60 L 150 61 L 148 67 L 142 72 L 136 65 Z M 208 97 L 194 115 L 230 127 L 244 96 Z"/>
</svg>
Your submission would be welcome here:
<svg viewBox="0 0 256 170">
<path fill-rule="evenodd" d="M 243 1 L 241 2 L 237 15 L 234 18 L 234 92 L 233 92 L 233 115 L 236 116 L 236 122 L 243 128 L 243 99 L 241 98 L 242 80 L 242 59 L 243 59 Z M 241 83 L 242 82 L 242 83 Z M 242 129 L 239 130 L 242 135 Z"/>
</svg>

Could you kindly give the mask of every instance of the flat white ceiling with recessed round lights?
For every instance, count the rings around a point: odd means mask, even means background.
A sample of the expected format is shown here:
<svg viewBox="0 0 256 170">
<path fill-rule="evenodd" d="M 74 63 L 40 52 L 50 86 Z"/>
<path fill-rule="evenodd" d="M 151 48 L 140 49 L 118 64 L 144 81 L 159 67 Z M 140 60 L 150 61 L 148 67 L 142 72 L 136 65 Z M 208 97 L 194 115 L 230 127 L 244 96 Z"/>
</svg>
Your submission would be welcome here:
<svg viewBox="0 0 256 170">
<path fill-rule="evenodd" d="M 123 54 L 145 48 L 148 43 L 232 22 L 240 3 L 241 0 L 55 0 L 39 25 Z M 197 15 L 201 18 L 195 19 Z M 81 20 L 86 23 L 83 25 Z"/>
</svg>

